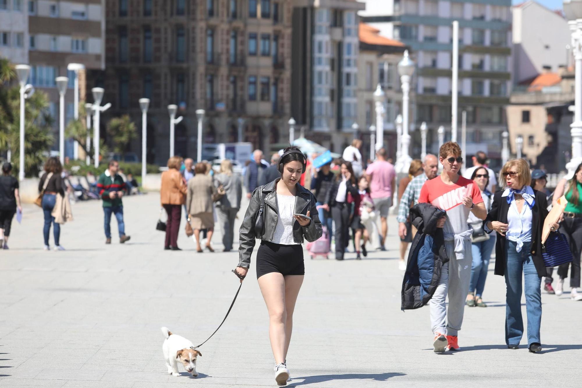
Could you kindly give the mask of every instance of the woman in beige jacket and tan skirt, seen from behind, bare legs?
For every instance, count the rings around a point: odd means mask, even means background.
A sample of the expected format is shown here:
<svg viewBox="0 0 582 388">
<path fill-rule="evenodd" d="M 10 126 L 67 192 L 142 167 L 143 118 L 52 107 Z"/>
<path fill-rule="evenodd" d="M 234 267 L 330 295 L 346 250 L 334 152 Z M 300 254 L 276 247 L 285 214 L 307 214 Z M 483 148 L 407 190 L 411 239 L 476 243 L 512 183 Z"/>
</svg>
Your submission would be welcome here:
<svg viewBox="0 0 582 388">
<path fill-rule="evenodd" d="M 193 178 L 188 182 L 188 191 L 186 197 L 186 211 L 190 218 L 190 224 L 194 229 L 194 238 L 196 239 L 196 252 L 202 252 L 200 246 L 200 230 L 208 230 L 206 248 L 214 252 L 210 241 L 212 232 L 214 232 L 214 216 L 212 214 L 212 197 L 217 194 L 212 177 L 207 174 L 205 163 L 197 163 L 194 166 Z"/>
</svg>

